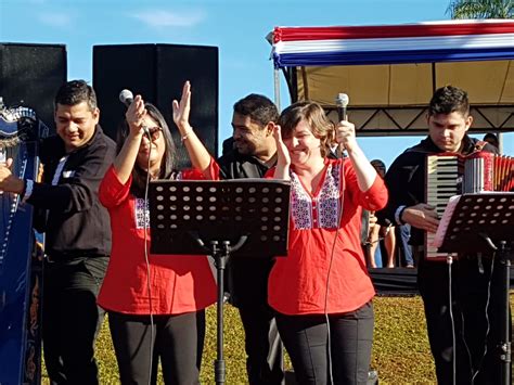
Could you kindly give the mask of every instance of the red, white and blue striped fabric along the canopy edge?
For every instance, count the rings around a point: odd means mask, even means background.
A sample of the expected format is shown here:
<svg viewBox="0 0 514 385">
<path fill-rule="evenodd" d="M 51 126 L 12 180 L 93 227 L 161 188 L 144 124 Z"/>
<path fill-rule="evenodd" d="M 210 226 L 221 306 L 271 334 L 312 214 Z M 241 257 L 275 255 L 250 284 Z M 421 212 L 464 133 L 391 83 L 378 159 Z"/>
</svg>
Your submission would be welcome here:
<svg viewBox="0 0 514 385">
<path fill-rule="evenodd" d="M 275 27 L 275 67 L 514 59 L 514 21 Z"/>
</svg>

